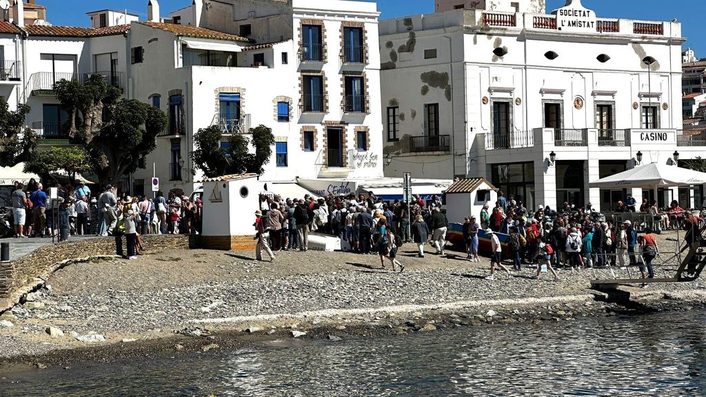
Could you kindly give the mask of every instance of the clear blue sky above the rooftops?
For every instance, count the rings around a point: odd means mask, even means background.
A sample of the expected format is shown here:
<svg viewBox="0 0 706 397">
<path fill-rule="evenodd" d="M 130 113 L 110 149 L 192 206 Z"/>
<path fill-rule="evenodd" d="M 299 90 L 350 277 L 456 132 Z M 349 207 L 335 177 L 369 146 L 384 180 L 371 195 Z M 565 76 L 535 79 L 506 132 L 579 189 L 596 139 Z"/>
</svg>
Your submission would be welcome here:
<svg viewBox="0 0 706 397">
<path fill-rule="evenodd" d="M 325 1 L 325 0 L 321 0 Z M 369 0 L 372 1 L 372 0 Z M 38 0 L 47 6 L 47 19 L 54 25 L 87 26 L 88 11 L 104 8 L 127 8 L 137 13 L 140 19 L 147 18 L 148 0 Z M 547 9 L 563 6 L 564 0 L 547 0 Z M 433 0 L 377 0 L 381 18 L 409 16 L 417 13 L 433 12 Z M 188 6 L 191 0 L 162 0 L 162 16 L 169 11 Z M 672 20 L 682 23 L 682 35 L 690 38 L 685 46 L 695 49 L 697 57 L 706 57 L 706 40 L 699 40 L 702 28 L 704 0 L 583 0 L 586 8 L 596 11 L 599 17 L 628 18 L 642 20 Z"/>
</svg>

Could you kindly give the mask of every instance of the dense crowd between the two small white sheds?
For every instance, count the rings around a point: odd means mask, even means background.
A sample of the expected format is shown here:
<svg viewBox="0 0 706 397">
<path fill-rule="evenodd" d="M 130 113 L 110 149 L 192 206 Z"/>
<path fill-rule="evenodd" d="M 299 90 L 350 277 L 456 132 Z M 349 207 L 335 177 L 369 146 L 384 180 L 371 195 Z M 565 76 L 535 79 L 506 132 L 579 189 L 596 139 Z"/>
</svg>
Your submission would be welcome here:
<svg viewBox="0 0 706 397">
<path fill-rule="evenodd" d="M 396 257 L 402 244 L 414 242 L 423 258 L 424 244 L 431 239 L 443 255 L 448 220 L 438 196 L 429 203 L 414 196 L 407 205 L 400 200 L 384 203 L 369 191 L 326 198 L 306 194 L 301 199 L 261 195 L 254 226 L 258 260 L 263 251 L 271 260 L 277 251 L 307 251 L 309 232 L 318 232 L 339 237 L 348 251 L 381 256 L 383 267 L 383 259 L 389 259 L 395 271 L 404 268 Z"/>
</svg>

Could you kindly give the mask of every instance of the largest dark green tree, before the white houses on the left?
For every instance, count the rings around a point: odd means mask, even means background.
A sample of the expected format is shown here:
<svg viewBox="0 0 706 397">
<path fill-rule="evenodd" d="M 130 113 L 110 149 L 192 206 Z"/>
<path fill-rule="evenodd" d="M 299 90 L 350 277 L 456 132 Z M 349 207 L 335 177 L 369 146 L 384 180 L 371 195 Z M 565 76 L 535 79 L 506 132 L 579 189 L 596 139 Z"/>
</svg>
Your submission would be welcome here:
<svg viewBox="0 0 706 397">
<path fill-rule="evenodd" d="M 68 133 L 80 142 L 101 184 L 116 184 L 154 150 L 167 115 L 138 100 L 120 99 L 120 90 L 99 75 L 85 83 L 59 81 L 56 97 L 71 115 Z"/>
</svg>

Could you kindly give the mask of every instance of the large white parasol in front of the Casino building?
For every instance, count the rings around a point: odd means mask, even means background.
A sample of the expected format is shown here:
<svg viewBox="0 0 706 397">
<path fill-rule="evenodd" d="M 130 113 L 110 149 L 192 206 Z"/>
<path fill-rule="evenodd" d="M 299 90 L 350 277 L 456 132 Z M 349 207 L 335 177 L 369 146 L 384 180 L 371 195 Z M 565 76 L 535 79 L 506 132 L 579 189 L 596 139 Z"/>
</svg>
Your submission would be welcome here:
<svg viewBox="0 0 706 397">
<path fill-rule="evenodd" d="M 599 179 L 588 185 L 600 189 L 657 189 L 658 187 L 698 184 L 706 184 L 706 173 L 653 162 Z"/>
</svg>

